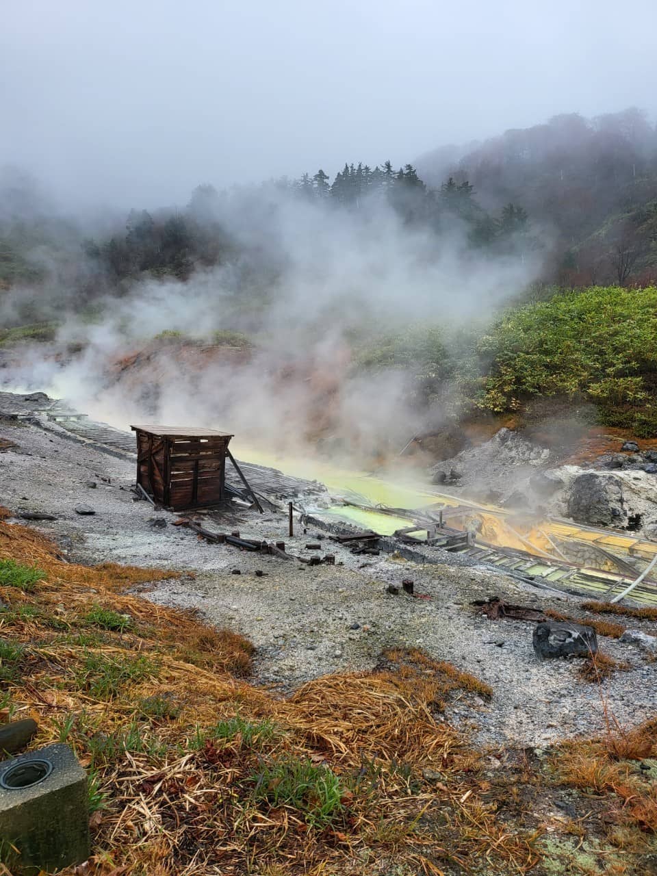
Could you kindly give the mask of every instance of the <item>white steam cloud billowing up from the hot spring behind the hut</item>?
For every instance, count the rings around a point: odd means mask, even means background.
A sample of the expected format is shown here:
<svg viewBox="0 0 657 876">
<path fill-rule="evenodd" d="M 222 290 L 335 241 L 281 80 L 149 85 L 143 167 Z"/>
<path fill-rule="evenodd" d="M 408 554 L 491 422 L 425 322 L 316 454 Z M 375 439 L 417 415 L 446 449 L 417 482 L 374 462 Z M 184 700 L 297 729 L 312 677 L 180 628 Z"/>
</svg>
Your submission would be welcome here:
<svg viewBox="0 0 657 876">
<path fill-rule="evenodd" d="M 242 190 L 213 221 L 232 242 L 222 265 L 102 293 L 93 318 L 52 272 L 39 295 L 46 317 L 48 301 L 63 302 L 56 340 L 47 355 L 42 344 L 20 350 L 4 384 L 65 397 L 119 427 L 217 427 L 254 446 L 320 444 L 361 462 L 400 448 L 442 411 L 418 406 L 408 372 L 357 370 L 359 345 L 413 324 L 485 321 L 540 269 L 532 253 L 475 253 L 456 223 L 441 236 L 410 226 L 383 201 L 337 210 Z M 12 290 L 3 315 L 31 294 Z M 250 336 L 251 350 L 212 347 L 226 331 Z M 196 343 L 153 342 L 162 332 Z"/>
</svg>

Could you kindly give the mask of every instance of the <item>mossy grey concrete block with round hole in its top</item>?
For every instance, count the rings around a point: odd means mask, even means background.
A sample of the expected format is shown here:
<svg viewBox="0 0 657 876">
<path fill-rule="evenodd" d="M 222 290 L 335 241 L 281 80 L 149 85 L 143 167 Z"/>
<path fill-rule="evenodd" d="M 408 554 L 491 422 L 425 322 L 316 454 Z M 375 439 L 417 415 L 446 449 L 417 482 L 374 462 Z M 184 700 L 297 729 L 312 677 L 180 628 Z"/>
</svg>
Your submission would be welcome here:
<svg viewBox="0 0 657 876">
<path fill-rule="evenodd" d="M 48 745 L 0 763 L 0 839 L 20 852 L 17 872 L 58 870 L 87 860 L 87 776 L 68 745 Z"/>
</svg>

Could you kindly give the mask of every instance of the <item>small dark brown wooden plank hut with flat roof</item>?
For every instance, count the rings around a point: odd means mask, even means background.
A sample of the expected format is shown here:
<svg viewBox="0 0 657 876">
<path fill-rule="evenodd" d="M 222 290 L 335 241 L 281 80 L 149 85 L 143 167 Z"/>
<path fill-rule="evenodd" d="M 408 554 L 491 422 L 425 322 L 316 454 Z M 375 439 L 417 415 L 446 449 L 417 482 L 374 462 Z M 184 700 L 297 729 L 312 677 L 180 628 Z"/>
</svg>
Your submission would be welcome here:
<svg viewBox="0 0 657 876">
<path fill-rule="evenodd" d="M 223 501 L 231 434 L 175 426 L 131 429 L 137 433 L 137 483 L 156 502 L 183 511 Z"/>
</svg>

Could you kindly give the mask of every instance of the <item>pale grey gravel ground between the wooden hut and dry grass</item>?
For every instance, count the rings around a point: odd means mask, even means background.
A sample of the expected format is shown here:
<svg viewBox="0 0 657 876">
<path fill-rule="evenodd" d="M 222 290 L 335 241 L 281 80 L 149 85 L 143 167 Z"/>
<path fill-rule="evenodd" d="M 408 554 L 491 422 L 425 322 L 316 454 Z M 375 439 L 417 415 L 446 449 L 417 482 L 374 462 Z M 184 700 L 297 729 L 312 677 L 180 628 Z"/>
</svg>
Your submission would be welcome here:
<svg viewBox="0 0 657 876">
<path fill-rule="evenodd" d="M 620 724 L 657 712 L 654 664 L 638 647 L 601 639 L 602 650 L 629 661 L 632 670 L 595 684 L 576 679 L 576 662 L 540 661 L 532 647 L 532 625 L 490 621 L 470 607 L 491 596 L 533 607 L 576 611 L 578 600 L 533 589 L 506 576 L 476 568 L 420 565 L 394 556 L 355 556 L 328 538 L 321 555 L 336 566 L 307 567 L 268 555 L 209 545 L 189 530 L 153 526 L 170 512 L 134 502 L 134 463 L 26 425 L 0 423 L 0 437 L 18 449 L 0 453 L 0 502 L 13 512 L 58 516 L 29 524 L 58 540 L 76 562 L 129 562 L 193 573 L 156 584 L 144 597 L 161 604 L 199 609 L 216 625 L 243 632 L 258 647 L 255 681 L 281 691 L 332 672 L 374 667 L 385 646 L 419 646 L 432 656 L 472 672 L 494 690 L 490 703 L 463 696 L 449 705 L 448 718 L 471 725 L 486 745 L 544 745 L 604 727 L 608 703 Z M 96 486 L 89 487 L 87 482 Z M 95 509 L 80 516 L 77 503 Z M 285 540 L 293 554 L 309 555 L 317 530 L 286 537 L 286 516 L 238 513 L 226 526 L 245 536 Z M 342 565 L 341 565 L 342 563 Z M 240 574 L 233 574 L 239 569 Z M 256 570 L 265 573 L 256 576 Z M 415 594 L 386 592 L 410 577 Z M 632 622 L 632 625 L 636 625 Z M 645 632 L 657 625 L 643 623 Z"/>
</svg>

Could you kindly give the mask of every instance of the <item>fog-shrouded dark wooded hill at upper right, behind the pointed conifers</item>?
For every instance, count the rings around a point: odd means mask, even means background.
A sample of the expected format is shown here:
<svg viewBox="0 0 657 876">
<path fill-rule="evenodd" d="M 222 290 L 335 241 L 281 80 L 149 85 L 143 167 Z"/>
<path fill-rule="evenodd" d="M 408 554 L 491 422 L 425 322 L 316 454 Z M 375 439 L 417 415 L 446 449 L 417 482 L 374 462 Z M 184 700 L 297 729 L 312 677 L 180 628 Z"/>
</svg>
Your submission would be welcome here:
<svg viewBox="0 0 657 876">
<path fill-rule="evenodd" d="M 544 279 L 646 285 L 657 277 L 657 132 L 638 109 L 556 116 L 417 160 L 431 186 L 451 174 L 495 211 L 518 203 L 543 230 Z"/>
</svg>

